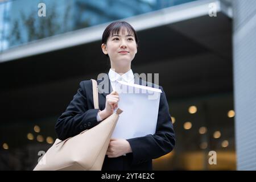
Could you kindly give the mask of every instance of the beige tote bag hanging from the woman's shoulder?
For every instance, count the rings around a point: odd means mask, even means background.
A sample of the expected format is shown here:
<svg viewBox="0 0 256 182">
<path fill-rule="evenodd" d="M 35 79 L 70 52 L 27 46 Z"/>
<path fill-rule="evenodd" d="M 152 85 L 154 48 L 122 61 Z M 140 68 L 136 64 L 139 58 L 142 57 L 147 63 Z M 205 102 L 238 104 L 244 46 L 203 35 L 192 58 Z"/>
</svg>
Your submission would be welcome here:
<svg viewBox="0 0 256 182">
<path fill-rule="evenodd" d="M 96 80 L 93 84 L 94 109 L 98 109 L 98 89 Z M 46 170 L 101 170 L 108 150 L 110 138 L 118 121 L 121 109 L 117 109 L 97 126 L 82 131 L 75 137 L 63 141 L 56 139 L 55 143 L 39 163 L 34 171 Z"/>
</svg>

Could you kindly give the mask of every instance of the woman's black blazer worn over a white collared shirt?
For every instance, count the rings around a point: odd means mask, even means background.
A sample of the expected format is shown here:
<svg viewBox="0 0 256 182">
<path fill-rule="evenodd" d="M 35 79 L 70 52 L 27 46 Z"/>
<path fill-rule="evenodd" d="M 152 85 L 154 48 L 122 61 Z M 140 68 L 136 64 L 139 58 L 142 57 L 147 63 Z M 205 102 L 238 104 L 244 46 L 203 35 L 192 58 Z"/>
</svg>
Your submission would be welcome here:
<svg viewBox="0 0 256 182">
<path fill-rule="evenodd" d="M 135 84 L 155 87 L 156 85 L 143 81 L 134 74 Z M 100 110 L 105 109 L 106 95 L 112 92 L 109 78 L 97 80 L 98 100 Z M 109 84 L 109 93 L 102 93 L 101 84 Z M 103 88 L 104 89 L 104 88 Z M 105 156 L 102 170 L 152 170 L 152 159 L 171 152 L 175 146 L 175 133 L 172 126 L 169 107 L 162 86 L 160 94 L 160 104 L 158 111 L 158 121 L 154 135 L 127 139 L 130 143 L 132 153 L 118 158 L 108 158 Z M 81 131 L 96 126 L 98 109 L 93 106 L 92 81 L 80 82 L 80 88 L 69 103 L 67 109 L 57 119 L 55 130 L 60 140 L 73 137 Z M 86 143 L 85 143 L 86 146 Z"/>
</svg>

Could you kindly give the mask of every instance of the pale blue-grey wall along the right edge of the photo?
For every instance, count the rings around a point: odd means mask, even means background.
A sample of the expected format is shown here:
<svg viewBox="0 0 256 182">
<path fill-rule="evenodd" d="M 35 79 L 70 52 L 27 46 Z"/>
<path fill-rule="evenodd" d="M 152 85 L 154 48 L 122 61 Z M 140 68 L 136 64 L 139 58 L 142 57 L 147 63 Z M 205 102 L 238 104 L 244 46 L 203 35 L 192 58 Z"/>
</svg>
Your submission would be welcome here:
<svg viewBox="0 0 256 182">
<path fill-rule="evenodd" d="M 256 170 L 256 1 L 233 1 L 237 169 Z"/>
</svg>

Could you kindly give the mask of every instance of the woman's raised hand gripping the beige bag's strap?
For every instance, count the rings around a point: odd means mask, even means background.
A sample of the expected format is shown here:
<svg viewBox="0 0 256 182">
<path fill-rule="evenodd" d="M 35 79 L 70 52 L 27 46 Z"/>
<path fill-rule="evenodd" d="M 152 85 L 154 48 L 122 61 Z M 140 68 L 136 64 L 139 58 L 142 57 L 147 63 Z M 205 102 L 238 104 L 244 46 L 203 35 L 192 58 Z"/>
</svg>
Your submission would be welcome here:
<svg viewBox="0 0 256 182">
<path fill-rule="evenodd" d="M 98 113 L 101 119 L 105 119 L 114 113 L 115 108 L 118 107 L 118 101 L 119 96 L 116 91 L 113 91 L 112 93 L 106 96 L 105 109 Z"/>
</svg>

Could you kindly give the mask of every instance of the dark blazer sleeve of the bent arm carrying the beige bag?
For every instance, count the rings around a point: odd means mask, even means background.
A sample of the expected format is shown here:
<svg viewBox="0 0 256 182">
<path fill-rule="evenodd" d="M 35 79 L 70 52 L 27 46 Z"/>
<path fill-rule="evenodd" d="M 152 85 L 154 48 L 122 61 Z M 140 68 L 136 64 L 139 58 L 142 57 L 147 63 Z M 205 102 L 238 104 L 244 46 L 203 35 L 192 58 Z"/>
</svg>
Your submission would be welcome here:
<svg viewBox="0 0 256 182">
<path fill-rule="evenodd" d="M 55 131 L 60 140 L 73 137 L 81 131 L 96 126 L 98 109 L 88 109 L 85 86 L 91 81 L 81 81 L 77 93 L 67 109 L 57 119 Z"/>
</svg>

